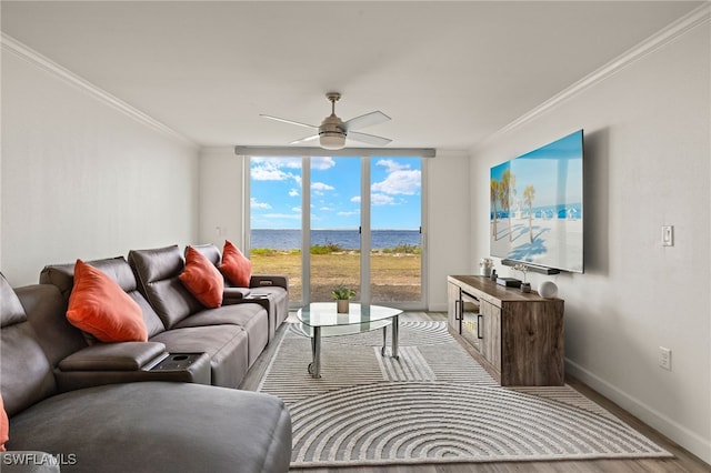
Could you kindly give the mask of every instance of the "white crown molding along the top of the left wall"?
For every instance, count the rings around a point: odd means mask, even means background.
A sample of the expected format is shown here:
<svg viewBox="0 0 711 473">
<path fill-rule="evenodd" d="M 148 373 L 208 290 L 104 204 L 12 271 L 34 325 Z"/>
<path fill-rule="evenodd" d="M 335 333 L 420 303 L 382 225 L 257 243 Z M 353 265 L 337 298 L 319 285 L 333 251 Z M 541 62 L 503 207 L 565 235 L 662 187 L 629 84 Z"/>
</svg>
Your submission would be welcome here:
<svg viewBox="0 0 711 473">
<path fill-rule="evenodd" d="M 46 56 L 40 54 L 39 52 L 23 44 L 22 42 L 16 40 L 11 36 L 2 33 L 0 41 L 2 42 L 3 52 L 10 52 L 17 56 L 18 58 L 23 59 L 24 61 L 31 63 L 32 66 L 36 66 L 37 68 L 54 76 L 56 78 L 63 80 L 64 82 L 82 90 L 83 92 L 87 92 L 90 97 L 99 100 L 100 102 L 109 105 L 114 110 L 118 110 L 119 112 L 138 121 L 139 123 L 148 125 L 149 128 L 157 130 L 161 133 L 168 134 L 169 137 L 172 137 L 174 139 L 178 139 L 179 141 L 182 141 L 183 143 L 189 144 L 192 148 L 196 148 L 196 149 L 199 148 L 198 143 L 190 140 L 186 135 L 177 132 L 176 130 L 166 125 L 164 123 L 153 119 L 152 117 L 143 113 L 137 108 L 128 104 L 127 102 L 122 101 L 118 97 L 112 95 L 111 93 L 107 92 L 100 87 L 77 76 L 76 73 L 71 72 L 69 69 L 58 64 L 57 62 L 52 61 Z"/>
</svg>

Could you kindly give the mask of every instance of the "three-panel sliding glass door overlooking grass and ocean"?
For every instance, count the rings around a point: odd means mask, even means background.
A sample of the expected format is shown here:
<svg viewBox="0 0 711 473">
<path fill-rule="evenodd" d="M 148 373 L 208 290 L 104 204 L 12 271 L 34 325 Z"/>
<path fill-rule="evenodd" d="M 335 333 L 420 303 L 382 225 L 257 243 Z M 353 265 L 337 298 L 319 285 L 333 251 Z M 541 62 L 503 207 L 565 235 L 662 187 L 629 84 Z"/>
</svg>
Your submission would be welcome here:
<svg viewBox="0 0 711 473">
<path fill-rule="evenodd" d="M 287 274 L 291 306 L 346 284 L 424 308 L 420 158 L 251 158 L 249 177 L 253 271 Z"/>
</svg>

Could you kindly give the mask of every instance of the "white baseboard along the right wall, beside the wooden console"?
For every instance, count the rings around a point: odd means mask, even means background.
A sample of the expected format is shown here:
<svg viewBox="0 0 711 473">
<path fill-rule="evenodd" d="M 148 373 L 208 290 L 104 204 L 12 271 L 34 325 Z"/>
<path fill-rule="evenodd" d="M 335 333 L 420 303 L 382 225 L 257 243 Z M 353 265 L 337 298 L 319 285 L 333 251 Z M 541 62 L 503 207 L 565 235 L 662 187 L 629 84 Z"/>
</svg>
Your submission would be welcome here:
<svg viewBox="0 0 711 473">
<path fill-rule="evenodd" d="M 711 464 L 711 439 L 703 439 L 569 359 L 565 359 L 565 373 L 571 374 L 705 463 Z"/>
</svg>

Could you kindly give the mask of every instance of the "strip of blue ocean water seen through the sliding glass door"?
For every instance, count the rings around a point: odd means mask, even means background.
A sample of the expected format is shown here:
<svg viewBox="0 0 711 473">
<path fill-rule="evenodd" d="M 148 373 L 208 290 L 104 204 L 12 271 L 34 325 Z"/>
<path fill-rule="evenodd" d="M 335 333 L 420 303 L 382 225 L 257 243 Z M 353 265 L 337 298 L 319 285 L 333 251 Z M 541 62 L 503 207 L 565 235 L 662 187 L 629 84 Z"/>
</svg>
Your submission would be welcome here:
<svg viewBox="0 0 711 473">
<path fill-rule="evenodd" d="M 401 244 L 420 245 L 419 230 L 371 230 L 371 248 L 383 250 Z M 311 245 L 336 244 L 344 250 L 360 248 L 358 230 L 311 230 Z M 251 248 L 293 250 L 301 248 L 301 230 L 254 229 Z"/>
</svg>

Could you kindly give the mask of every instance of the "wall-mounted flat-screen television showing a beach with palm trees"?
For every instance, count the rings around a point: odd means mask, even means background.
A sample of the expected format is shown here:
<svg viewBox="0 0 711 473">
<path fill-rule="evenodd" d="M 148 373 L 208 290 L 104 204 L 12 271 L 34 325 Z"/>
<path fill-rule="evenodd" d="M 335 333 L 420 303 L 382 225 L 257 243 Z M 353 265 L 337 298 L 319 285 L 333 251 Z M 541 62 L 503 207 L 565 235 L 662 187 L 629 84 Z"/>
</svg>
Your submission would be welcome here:
<svg viewBox="0 0 711 473">
<path fill-rule="evenodd" d="M 491 254 L 583 272 L 582 130 L 491 168 Z"/>
</svg>

